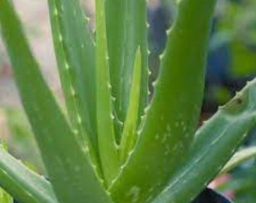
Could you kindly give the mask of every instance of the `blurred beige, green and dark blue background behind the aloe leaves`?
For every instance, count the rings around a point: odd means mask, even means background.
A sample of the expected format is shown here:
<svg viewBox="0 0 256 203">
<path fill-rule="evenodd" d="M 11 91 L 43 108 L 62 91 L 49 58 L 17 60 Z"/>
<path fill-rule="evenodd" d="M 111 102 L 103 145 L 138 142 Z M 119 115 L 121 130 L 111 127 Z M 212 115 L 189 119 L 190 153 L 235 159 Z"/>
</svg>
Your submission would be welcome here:
<svg viewBox="0 0 256 203">
<path fill-rule="evenodd" d="M 81 2 L 91 18 L 93 29 L 93 1 Z M 41 64 L 51 89 L 62 101 L 59 77 L 50 35 L 46 0 L 14 0 L 23 20 L 32 50 Z M 175 1 L 148 1 L 148 41 L 151 50 L 149 86 L 159 70 L 159 55 L 166 44 L 166 29 L 172 25 L 177 13 Z M 256 76 L 256 1 L 218 0 L 212 22 L 207 59 L 206 89 L 201 121 L 208 119 Z M 194 36 L 197 38 L 197 36 Z M 21 50 L 22 51 L 22 50 Z M 182 58 L 181 58 L 182 59 Z M 250 132 L 244 145 L 256 144 L 256 130 Z M 0 138 L 8 144 L 14 156 L 30 168 L 44 174 L 44 167 L 32 138 L 29 124 L 20 105 L 8 56 L 0 40 Z M 225 192 L 237 203 L 256 202 L 256 162 L 254 159 L 233 170 L 211 184 Z"/>
</svg>

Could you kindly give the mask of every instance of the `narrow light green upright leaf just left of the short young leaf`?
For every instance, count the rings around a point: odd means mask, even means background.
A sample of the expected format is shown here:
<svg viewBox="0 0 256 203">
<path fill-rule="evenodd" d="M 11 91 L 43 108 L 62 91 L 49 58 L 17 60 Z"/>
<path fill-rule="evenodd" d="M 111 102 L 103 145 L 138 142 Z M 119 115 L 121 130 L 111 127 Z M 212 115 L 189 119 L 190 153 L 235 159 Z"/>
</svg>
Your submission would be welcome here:
<svg viewBox="0 0 256 203">
<path fill-rule="evenodd" d="M 108 186 L 119 171 L 119 155 L 114 135 L 111 84 L 105 28 L 105 0 L 96 0 L 96 108 L 99 156 Z"/>
</svg>

